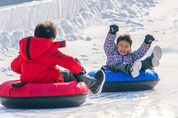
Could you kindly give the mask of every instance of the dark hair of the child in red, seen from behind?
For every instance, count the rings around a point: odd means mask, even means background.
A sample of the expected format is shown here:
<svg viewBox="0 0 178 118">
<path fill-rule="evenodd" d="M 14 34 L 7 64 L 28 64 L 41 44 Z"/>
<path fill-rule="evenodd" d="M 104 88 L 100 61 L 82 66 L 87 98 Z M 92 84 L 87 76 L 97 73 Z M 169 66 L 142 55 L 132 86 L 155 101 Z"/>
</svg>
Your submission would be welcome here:
<svg viewBox="0 0 178 118">
<path fill-rule="evenodd" d="M 56 26 L 50 21 L 39 23 L 35 28 L 35 37 L 39 38 L 56 38 Z"/>
</svg>

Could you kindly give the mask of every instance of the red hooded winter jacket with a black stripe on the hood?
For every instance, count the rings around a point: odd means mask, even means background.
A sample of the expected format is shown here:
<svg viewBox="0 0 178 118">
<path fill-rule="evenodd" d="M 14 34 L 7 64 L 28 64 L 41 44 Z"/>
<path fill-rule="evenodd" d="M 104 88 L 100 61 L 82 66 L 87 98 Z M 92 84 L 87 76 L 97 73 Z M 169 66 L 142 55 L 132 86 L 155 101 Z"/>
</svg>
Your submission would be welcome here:
<svg viewBox="0 0 178 118">
<path fill-rule="evenodd" d="M 20 75 L 22 83 L 64 82 L 59 65 L 80 73 L 81 65 L 73 58 L 60 52 L 65 41 L 52 42 L 46 38 L 26 37 L 20 40 L 20 54 L 11 63 L 11 69 Z"/>
</svg>

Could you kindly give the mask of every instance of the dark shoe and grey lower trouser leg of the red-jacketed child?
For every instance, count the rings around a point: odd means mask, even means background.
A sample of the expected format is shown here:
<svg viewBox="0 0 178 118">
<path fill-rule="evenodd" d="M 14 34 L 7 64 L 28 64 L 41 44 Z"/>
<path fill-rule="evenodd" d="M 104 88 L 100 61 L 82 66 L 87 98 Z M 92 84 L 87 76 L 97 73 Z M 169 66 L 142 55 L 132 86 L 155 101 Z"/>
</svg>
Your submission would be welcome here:
<svg viewBox="0 0 178 118">
<path fill-rule="evenodd" d="M 105 74 L 99 70 L 94 77 L 84 74 L 80 79 L 88 86 L 93 96 L 98 96 L 103 89 Z"/>
</svg>

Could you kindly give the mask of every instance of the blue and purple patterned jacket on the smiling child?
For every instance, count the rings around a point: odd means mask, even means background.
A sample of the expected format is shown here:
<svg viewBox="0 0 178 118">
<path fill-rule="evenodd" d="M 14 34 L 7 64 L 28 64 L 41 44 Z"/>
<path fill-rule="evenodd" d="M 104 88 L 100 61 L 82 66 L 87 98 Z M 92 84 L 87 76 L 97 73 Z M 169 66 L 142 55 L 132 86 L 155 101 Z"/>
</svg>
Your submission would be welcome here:
<svg viewBox="0 0 178 118">
<path fill-rule="evenodd" d="M 142 58 L 149 50 L 150 46 L 146 46 L 145 43 L 136 51 L 130 51 L 127 55 L 121 56 L 117 51 L 115 44 L 116 35 L 110 35 L 108 33 L 105 43 L 104 51 L 107 56 L 107 66 L 113 66 L 117 62 L 131 63 L 133 64 L 136 60 Z"/>
</svg>

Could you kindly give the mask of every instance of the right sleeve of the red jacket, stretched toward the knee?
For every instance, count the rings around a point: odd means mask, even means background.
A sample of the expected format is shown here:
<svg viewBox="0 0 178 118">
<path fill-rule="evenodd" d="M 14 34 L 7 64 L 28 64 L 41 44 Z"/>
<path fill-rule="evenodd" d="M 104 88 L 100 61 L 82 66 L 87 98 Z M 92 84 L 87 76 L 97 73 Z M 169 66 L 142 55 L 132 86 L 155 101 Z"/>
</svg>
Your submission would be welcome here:
<svg viewBox="0 0 178 118">
<path fill-rule="evenodd" d="M 76 61 L 73 57 L 68 56 L 60 51 L 56 51 L 56 53 L 52 56 L 53 63 L 66 68 L 73 72 L 74 74 L 78 74 L 82 70 L 82 66 Z"/>
</svg>

